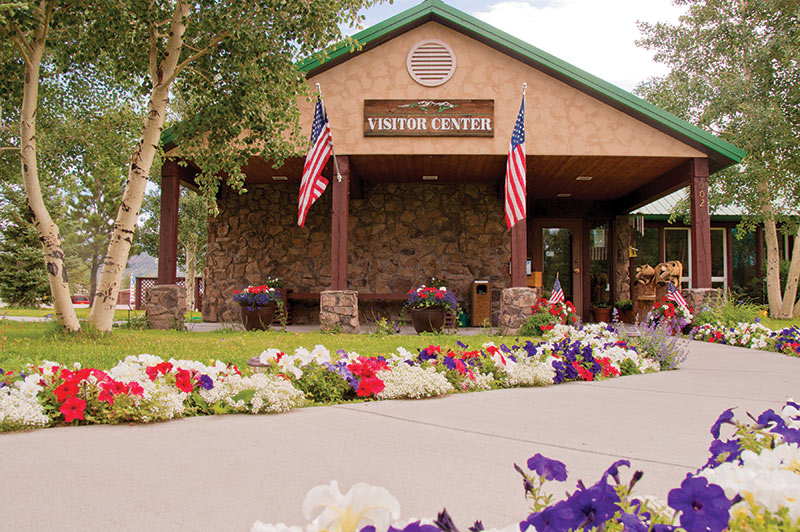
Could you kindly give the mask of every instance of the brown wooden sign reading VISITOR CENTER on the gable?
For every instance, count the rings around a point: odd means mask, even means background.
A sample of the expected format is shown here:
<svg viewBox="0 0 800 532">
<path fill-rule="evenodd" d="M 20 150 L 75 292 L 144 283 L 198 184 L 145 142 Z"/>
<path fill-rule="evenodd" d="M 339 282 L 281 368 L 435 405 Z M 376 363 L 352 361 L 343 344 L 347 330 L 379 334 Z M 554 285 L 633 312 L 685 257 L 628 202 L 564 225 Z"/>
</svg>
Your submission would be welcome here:
<svg viewBox="0 0 800 532">
<path fill-rule="evenodd" d="M 494 100 L 364 100 L 365 137 L 493 137 Z"/>
</svg>

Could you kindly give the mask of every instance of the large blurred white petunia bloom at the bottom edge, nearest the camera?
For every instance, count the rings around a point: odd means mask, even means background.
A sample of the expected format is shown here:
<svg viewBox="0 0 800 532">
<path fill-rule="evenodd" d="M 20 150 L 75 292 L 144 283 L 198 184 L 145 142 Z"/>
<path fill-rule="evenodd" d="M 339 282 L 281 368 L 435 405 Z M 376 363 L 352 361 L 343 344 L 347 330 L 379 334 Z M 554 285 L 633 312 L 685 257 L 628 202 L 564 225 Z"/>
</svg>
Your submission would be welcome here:
<svg viewBox="0 0 800 532">
<path fill-rule="evenodd" d="M 317 530 L 357 532 L 367 525 L 386 530 L 393 519 L 400 518 L 400 503 L 385 488 L 363 482 L 342 494 L 339 483 L 332 480 L 328 486 L 309 490 L 303 501 L 303 516 L 313 518 L 311 526 Z"/>
</svg>

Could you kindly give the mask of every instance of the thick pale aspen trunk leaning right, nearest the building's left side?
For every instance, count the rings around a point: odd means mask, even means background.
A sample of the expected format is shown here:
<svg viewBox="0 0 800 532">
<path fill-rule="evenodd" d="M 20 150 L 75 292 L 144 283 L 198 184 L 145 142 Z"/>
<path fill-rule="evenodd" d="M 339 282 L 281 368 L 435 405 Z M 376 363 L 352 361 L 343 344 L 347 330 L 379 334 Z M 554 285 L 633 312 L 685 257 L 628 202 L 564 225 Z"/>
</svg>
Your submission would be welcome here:
<svg viewBox="0 0 800 532">
<path fill-rule="evenodd" d="M 152 79 L 153 90 L 147 105 L 142 138 L 134 148 L 131 157 L 128 182 L 122 194 L 122 203 L 111 233 L 111 241 L 108 243 L 108 251 L 103 259 L 103 271 L 100 274 L 97 294 L 95 294 L 94 304 L 89 315 L 89 322 L 99 331 L 111 331 L 117 292 L 128 261 L 139 209 L 142 207 L 147 186 L 147 178 L 161 142 L 161 130 L 167 112 L 169 89 L 178 66 L 188 16 L 187 2 L 179 0 L 170 23 L 165 58 L 157 72 L 151 74 L 151 77 L 155 79 Z"/>
</svg>

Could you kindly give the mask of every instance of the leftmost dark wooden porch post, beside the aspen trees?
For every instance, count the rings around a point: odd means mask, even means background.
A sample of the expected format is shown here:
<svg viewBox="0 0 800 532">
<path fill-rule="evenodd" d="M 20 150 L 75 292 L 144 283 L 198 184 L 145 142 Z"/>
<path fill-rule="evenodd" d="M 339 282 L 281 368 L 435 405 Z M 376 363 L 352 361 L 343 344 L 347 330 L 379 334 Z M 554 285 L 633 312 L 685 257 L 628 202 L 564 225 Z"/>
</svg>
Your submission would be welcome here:
<svg viewBox="0 0 800 532">
<path fill-rule="evenodd" d="M 181 196 L 180 167 L 168 160 L 161 167 L 161 225 L 158 237 L 158 281 L 175 284 L 178 268 L 178 202 Z"/>
</svg>

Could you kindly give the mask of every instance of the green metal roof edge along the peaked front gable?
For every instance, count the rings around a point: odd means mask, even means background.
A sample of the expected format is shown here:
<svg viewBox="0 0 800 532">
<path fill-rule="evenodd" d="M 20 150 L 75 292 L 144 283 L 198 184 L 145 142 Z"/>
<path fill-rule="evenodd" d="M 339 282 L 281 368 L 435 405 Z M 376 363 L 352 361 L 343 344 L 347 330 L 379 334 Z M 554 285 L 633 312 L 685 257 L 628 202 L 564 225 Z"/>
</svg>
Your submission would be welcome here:
<svg viewBox="0 0 800 532">
<path fill-rule="evenodd" d="M 327 58 L 324 61 L 312 57 L 300 61 L 298 66 L 308 77 L 313 77 L 359 53 L 374 48 L 401 33 L 429 21 L 435 21 L 460 31 L 520 61 L 539 68 L 614 108 L 694 146 L 709 156 L 709 167 L 712 172 L 739 162 L 745 155 L 743 150 L 733 144 L 725 142 L 711 133 L 597 76 L 593 76 L 535 46 L 531 46 L 508 33 L 490 26 L 472 15 L 447 5 L 441 0 L 425 0 L 415 7 L 356 33 L 353 37 L 361 46 L 360 50 L 352 50 L 351 45 L 343 41 L 328 49 Z M 176 135 L 172 128 L 165 130 L 161 135 L 161 142 L 164 146 L 174 143 L 176 140 Z"/>
</svg>

